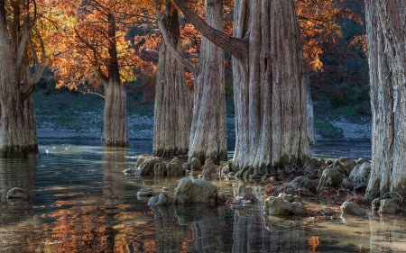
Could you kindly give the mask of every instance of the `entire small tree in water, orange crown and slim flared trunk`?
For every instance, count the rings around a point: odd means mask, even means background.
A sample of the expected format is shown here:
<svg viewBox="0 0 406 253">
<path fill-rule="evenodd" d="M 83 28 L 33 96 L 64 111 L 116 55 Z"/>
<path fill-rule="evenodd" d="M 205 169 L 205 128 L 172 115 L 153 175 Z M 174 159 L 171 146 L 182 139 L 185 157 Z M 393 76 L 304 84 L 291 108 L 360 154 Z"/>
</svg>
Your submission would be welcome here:
<svg viewBox="0 0 406 253">
<path fill-rule="evenodd" d="M 51 34 L 57 86 L 85 92 L 103 86 L 102 140 L 107 146 L 127 146 L 125 83 L 134 80 L 134 68 L 153 68 L 149 63 L 142 65 L 145 61 L 126 37 L 134 23 L 145 21 L 147 7 L 148 3 L 136 0 L 55 0 L 51 8 L 57 27 Z"/>
</svg>

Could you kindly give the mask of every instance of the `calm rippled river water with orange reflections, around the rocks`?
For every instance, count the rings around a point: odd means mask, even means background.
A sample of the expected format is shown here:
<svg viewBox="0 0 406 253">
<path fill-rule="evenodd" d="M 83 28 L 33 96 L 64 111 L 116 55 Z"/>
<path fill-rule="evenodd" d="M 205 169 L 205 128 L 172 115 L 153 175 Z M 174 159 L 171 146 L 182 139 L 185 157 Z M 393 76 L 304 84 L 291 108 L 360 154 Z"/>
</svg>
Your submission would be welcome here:
<svg viewBox="0 0 406 253">
<path fill-rule="evenodd" d="M 172 194 L 180 177 L 125 176 L 152 148 L 151 140 L 133 142 L 106 149 L 93 140 L 41 140 L 41 158 L 0 160 L 0 252 L 406 252 L 405 217 L 281 219 L 263 216 L 261 205 L 151 209 L 137 191 Z M 213 183 L 220 191 L 242 184 Z M 27 201 L 6 199 L 16 186 Z"/>
</svg>

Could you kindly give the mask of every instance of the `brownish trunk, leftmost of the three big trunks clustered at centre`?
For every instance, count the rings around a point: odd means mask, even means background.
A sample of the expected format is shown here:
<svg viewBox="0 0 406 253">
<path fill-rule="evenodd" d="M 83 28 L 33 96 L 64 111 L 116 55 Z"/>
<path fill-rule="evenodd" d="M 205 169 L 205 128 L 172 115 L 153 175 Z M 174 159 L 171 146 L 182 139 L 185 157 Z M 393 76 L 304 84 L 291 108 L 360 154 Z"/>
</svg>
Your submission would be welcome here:
<svg viewBox="0 0 406 253">
<path fill-rule="evenodd" d="M 176 10 L 163 21 L 178 50 L 180 28 Z M 169 158 L 187 155 L 193 107 L 193 90 L 186 84 L 185 68 L 162 42 L 155 90 L 153 155 Z"/>
</svg>

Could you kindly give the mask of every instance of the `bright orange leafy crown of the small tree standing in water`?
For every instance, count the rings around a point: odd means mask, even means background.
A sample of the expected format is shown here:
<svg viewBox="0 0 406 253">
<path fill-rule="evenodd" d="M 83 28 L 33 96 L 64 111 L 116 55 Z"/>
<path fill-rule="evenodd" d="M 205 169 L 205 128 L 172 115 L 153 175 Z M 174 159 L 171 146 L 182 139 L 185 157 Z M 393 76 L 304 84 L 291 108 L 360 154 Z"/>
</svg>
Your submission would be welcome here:
<svg viewBox="0 0 406 253">
<path fill-rule="evenodd" d="M 71 1 L 43 1 L 52 6 L 50 19 L 58 27 L 52 30 L 49 45 L 59 87 L 99 86 L 115 75 L 112 65 L 118 66 L 123 82 L 134 81 L 143 60 L 127 34 L 148 18 L 151 1 L 90 0 L 70 6 Z"/>
</svg>

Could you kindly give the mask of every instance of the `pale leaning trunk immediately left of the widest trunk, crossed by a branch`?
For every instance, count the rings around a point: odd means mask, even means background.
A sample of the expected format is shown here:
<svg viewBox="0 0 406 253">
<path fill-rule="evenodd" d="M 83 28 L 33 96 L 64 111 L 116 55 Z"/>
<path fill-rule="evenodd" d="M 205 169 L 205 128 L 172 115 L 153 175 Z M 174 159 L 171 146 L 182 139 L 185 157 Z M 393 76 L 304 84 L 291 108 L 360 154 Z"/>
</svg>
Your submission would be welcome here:
<svg viewBox="0 0 406 253">
<path fill-rule="evenodd" d="M 219 31 L 223 31 L 222 10 L 222 0 L 206 1 L 206 23 Z M 202 37 L 195 77 L 189 160 L 195 157 L 204 162 L 211 158 L 219 164 L 227 158 L 224 74 L 224 51 Z"/>
</svg>

